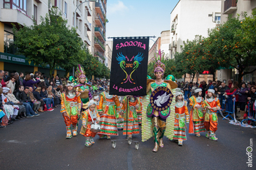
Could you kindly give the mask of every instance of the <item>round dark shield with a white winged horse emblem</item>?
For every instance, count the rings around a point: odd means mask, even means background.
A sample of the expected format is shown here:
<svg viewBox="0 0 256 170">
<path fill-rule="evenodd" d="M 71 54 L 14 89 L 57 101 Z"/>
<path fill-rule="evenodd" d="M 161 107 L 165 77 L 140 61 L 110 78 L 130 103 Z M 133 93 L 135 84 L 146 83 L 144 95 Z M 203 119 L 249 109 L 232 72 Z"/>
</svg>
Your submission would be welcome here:
<svg viewBox="0 0 256 170">
<path fill-rule="evenodd" d="M 169 88 L 158 87 L 156 88 L 150 96 L 151 107 L 157 111 L 163 111 L 170 107 L 173 101 L 173 93 Z"/>
</svg>

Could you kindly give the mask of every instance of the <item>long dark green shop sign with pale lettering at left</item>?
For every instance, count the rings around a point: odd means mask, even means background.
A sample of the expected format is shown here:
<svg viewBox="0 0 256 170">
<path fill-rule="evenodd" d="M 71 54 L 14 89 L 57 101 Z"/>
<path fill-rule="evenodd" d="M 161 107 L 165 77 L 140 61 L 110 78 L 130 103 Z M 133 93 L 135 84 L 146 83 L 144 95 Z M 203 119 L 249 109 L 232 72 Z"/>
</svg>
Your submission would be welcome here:
<svg viewBox="0 0 256 170">
<path fill-rule="evenodd" d="M 34 64 L 33 61 L 28 61 L 27 58 L 24 56 L 12 55 L 9 53 L 0 53 L 0 61 L 6 62 L 6 63 L 17 63 L 21 65 L 26 65 L 26 66 L 37 66 L 36 64 Z M 45 67 L 38 65 L 38 67 L 50 69 L 49 65 Z M 54 69 L 65 71 L 60 66 L 56 66 Z"/>
</svg>

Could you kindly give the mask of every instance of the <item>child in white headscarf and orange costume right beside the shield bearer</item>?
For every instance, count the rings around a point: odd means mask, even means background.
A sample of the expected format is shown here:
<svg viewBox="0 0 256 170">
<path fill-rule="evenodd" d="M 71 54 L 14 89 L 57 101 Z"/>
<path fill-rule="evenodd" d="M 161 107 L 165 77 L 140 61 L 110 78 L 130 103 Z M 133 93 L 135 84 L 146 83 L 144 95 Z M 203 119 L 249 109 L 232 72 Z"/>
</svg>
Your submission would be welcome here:
<svg viewBox="0 0 256 170">
<path fill-rule="evenodd" d="M 182 146 L 183 141 L 187 140 L 186 123 L 189 123 L 189 110 L 187 109 L 187 101 L 184 100 L 183 93 L 181 90 L 178 91 L 178 89 L 176 89 L 175 113 L 176 115 L 173 139 L 178 140 L 178 145 Z"/>
</svg>

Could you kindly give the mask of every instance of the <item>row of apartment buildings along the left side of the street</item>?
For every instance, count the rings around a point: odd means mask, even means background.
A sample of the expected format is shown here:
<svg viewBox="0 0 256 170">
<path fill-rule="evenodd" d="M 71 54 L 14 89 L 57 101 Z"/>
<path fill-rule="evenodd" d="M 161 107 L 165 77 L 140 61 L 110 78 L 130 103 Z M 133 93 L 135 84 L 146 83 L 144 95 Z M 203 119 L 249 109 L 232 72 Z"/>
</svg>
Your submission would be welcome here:
<svg viewBox="0 0 256 170">
<path fill-rule="evenodd" d="M 3 0 L 0 3 L 0 69 L 9 72 L 24 72 L 25 70 L 26 73 L 39 71 L 48 74 L 48 68 L 34 66 L 33 62 L 26 61 L 26 56 L 15 55 L 12 24 L 18 26 L 19 23 L 22 26 L 25 24 L 31 26 L 33 18 L 39 24 L 40 18 L 45 17 L 50 7 L 58 7 L 62 18 L 67 19 L 69 27 L 77 28 L 78 36 L 94 55 L 94 33 L 99 32 L 94 32 L 94 29 L 98 30 L 97 26 L 99 26 L 97 16 L 102 15 L 101 17 L 105 18 L 105 13 L 103 15 L 103 13 L 99 14 L 97 12 L 99 11 L 98 8 L 103 7 L 103 2 L 106 4 L 106 1 L 102 0 L 99 0 L 99 2 L 84 0 Z M 103 28 L 103 26 L 99 27 Z M 103 40 L 102 38 L 101 42 L 104 43 Z M 101 45 L 99 42 L 96 44 Z M 91 48 L 92 46 L 93 48 Z M 99 47 L 97 46 L 97 48 Z M 104 56 L 104 51 L 101 50 L 100 54 L 102 55 L 100 56 Z M 64 75 L 63 69 L 56 68 L 55 74 L 57 72 Z"/>
</svg>

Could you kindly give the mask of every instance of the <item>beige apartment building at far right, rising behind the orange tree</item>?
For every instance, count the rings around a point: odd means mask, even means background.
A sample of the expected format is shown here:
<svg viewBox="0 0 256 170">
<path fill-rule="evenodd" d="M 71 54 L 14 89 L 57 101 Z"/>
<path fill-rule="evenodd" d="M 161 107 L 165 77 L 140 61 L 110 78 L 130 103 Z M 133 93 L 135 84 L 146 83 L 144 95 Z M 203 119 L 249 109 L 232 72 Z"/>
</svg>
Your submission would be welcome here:
<svg viewBox="0 0 256 170">
<path fill-rule="evenodd" d="M 244 14 L 252 15 L 252 9 L 256 8 L 256 0 L 222 0 L 221 7 L 221 23 L 227 21 L 228 15 L 232 15 L 233 18 L 236 18 L 238 15 L 239 18 L 244 18 Z M 256 66 L 252 66 L 250 69 L 255 69 Z M 236 74 L 238 74 L 236 69 L 221 69 L 217 72 L 217 77 L 221 81 L 227 80 L 236 80 Z M 252 74 L 246 74 L 243 77 L 245 82 L 256 82 L 256 72 Z"/>
</svg>

